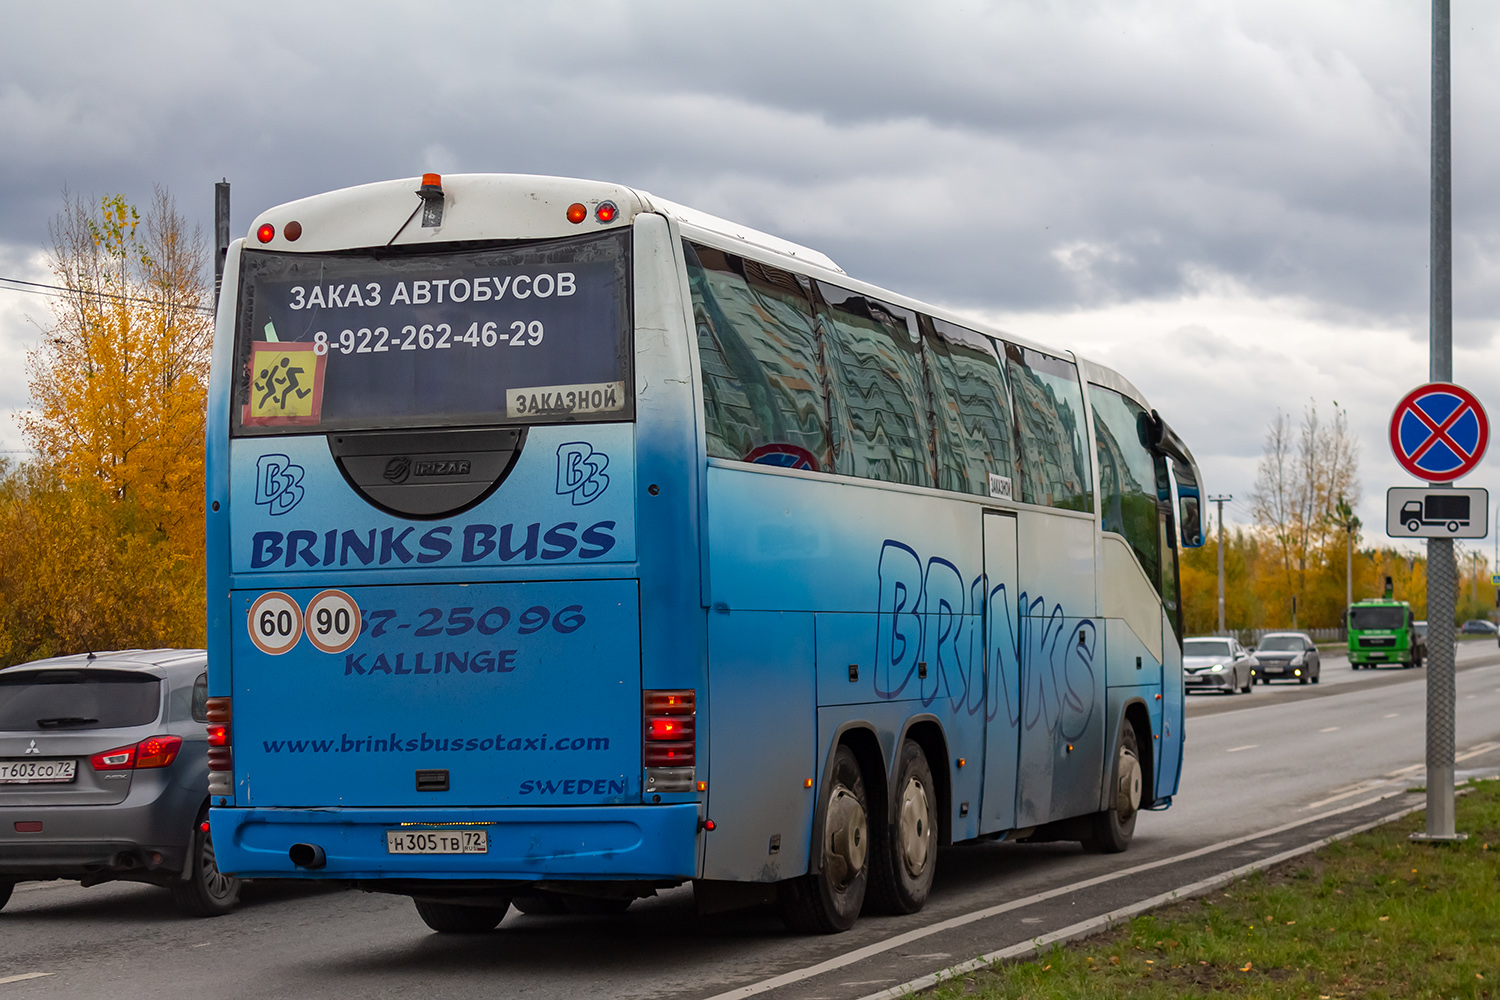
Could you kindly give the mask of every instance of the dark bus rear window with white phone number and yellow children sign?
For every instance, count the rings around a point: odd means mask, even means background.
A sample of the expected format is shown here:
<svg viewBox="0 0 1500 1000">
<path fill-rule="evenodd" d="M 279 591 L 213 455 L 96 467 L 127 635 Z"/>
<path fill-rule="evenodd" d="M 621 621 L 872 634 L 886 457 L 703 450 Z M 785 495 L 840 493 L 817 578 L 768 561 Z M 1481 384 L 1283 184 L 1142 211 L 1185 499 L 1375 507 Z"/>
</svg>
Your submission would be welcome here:
<svg viewBox="0 0 1500 1000">
<path fill-rule="evenodd" d="M 630 420 L 628 238 L 248 249 L 234 430 Z"/>
</svg>

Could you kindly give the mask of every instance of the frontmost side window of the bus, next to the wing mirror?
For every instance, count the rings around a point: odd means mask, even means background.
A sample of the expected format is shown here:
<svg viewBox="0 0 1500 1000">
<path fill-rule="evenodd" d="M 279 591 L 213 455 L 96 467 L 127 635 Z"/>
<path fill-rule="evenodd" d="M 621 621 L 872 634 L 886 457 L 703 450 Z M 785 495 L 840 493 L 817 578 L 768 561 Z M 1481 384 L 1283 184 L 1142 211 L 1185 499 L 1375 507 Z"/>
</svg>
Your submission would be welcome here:
<svg viewBox="0 0 1500 1000">
<path fill-rule="evenodd" d="M 1125 535 L 1142 570 L 1161 589 L 1156 531 L 1156 459 L 1146 447 L 1146 411 L 1112 388 L 1089 385 L 1094 441 L 1100 453 L 1100 516 L 1104 531 Z"/>
</svg>

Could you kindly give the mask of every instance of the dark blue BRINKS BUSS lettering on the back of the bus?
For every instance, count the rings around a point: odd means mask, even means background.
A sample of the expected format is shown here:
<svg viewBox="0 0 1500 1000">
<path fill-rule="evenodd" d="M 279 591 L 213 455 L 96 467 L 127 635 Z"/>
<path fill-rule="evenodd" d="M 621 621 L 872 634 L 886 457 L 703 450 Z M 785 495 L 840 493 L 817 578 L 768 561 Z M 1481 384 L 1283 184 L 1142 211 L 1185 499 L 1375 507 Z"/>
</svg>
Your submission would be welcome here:
<svg viewBox="0 0 1500 1000">
<path fill-rule="evenodd" d="M 452 525 L 432 528 L 417 535 L 417 528 L 369 528 L 366 531 L 330 528 L 324 532 L 308 529 L 256 531 L 250 537 L 250 568 L 266 570 L 280 564 L 294 567 L 332 565 L 429 565 L 459 553 L 459 562 L 532 562 L 562 559 L 598 559 L 615 547 L 615 522 L 600 520 L 579 529 L 579 522 L 566 520 L 543 531 L 540 522 L 530 525 L 465 525 L 459 537 Z"/>
</svg>

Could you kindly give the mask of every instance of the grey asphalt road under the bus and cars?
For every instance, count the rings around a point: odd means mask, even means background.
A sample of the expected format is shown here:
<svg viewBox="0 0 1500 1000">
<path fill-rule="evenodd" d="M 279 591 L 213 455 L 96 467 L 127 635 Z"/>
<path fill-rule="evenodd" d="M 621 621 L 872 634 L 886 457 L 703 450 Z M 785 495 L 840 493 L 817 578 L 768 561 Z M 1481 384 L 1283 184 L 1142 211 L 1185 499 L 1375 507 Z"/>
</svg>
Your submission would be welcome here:
<svg viewBox="0 0 1500 1000">
<path fill-rule="evenodd" d="M 1500 651 L 1464 643 L 1458 664 L 1460 774 L 1494 771 Z M 945 850 L 922 913 L 866 918 L 846 934 L 795 937 L 766 912 L 699 918 L 688 889 L 622 918 L 512 910 L 500 931 L 460 937 L 428 931 L 406 900 L 306 885 L 254 885 L 238 912 L 192 921 L 160 889 L 28 883 L 0 912 L 0 1000 L 866 997 L 1185 885 L 1190 868 L 1228 868 L 1360 814 L 1326 817 L 1335 810 L 1383 795 L 1400 801 L 1424 780 L 1425 672 L 1354 672 L 1338 657 L 1323 669 L 1318 685 L 1191 696 L 1182 789 L 1172 810 L 1142 816 L 1128 853 L 1084 855 L 1074 844 Z M 1208 850 L 1263 831 L 1272 832 Z M 12 979 L 36 973 L 48 975 Z"/>
</svg>

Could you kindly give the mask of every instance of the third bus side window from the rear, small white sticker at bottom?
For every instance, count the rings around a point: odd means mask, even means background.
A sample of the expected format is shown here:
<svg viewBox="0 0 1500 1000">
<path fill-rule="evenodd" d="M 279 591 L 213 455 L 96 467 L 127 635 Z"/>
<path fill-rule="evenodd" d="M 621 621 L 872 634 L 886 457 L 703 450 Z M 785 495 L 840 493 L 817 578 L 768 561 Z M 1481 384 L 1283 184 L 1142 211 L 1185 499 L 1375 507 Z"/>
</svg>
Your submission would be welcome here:
<svg viewBox="0 0 1500 1000">
<path fill-rule="evenodd" d="M 1002 490 L 1017 480 L 1016 417 L 1005 367 L 988 337 L 942 319 L 930 324 L 927 370 L 938 436 L 938 487 L 990 496 L 990 475 L 1010 481 L 999 486 Z"/>
</svg>

